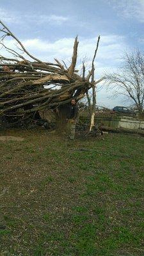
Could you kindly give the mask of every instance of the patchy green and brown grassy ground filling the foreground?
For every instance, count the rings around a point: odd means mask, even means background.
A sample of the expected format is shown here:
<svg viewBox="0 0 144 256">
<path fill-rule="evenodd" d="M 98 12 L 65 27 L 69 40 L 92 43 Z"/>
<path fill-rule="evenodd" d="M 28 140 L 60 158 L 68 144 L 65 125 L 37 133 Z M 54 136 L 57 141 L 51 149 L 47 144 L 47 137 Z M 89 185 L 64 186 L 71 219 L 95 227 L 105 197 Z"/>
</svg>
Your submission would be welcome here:
<svg viewBox="0 0 144 256">
<path fill-rule="evenodd" d="M 16 134 L 0 141 L 0 255 L 144 255 L 144 138 L 1 132 Z"/>
</svg>

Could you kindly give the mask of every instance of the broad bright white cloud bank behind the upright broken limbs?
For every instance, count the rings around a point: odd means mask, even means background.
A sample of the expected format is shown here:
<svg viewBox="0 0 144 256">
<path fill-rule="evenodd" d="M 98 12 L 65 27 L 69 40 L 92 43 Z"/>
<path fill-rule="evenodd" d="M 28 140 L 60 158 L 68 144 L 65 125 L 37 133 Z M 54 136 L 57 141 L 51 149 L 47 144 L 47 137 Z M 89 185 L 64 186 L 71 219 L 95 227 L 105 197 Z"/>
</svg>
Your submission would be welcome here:
<svg viewBox="0 0 144 256">
<path fill-rule="evenodd" d="M 7 40 L 5 42 L 8 47 L 14 47 L 16 49 L 13 40 Z M 60 61 L 66 61 L 69 65 L 72 57 L 74 38 L 60 38 L 54 42 L 35 38 L 23 40 L 22 44 L 37 58 L 44 61 L 54 61 L 54 58 L 58 58 Z M 97 38 L 79 38 L 78 68 L 81 68 L 81 63 L 84 60 L 86 68 L 90 69 L 96 44 Z M 125 47 L 125 38 L 123 36 L 101 36 L 95 61 L 97 76 L 102 74 L 102 70 L 108 67 L 116 67 L 120 64 L 121 54 Z"/>
</svg>

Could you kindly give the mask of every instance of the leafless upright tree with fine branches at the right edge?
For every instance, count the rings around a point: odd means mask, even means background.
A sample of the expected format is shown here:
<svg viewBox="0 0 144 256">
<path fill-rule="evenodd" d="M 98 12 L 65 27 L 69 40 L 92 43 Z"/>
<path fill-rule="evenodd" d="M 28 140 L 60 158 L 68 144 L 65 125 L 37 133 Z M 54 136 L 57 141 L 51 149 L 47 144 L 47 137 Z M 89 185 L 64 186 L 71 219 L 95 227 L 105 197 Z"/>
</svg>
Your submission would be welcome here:
<svg viewBox="0 0 144 256">
<path fill-rule="evenodd" d="M 124 95 L 131 100 L 139 113 L 144 107 L 144 54 L 140 51 L 125 53 L 124 65 L 117 72 L 106 74 L 110 88 L 115 89 L 115 95 Z"/>
</svg>

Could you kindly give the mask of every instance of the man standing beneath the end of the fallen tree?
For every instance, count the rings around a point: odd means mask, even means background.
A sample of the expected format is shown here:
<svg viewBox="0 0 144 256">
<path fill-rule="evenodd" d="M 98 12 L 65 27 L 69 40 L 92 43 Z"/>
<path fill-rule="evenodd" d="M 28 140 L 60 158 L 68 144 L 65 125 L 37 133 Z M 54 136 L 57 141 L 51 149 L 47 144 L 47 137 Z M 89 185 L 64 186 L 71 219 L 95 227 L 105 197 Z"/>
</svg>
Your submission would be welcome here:
<svg viewBox="0 0 144 256">
<path fill-rule="evenodd" d="M 70 140 L 74 140 L 78 116 L 78 107 L 75 99 L 71 100 L 68 112 L 68 138 L 70 138 Z"/>
</svg>

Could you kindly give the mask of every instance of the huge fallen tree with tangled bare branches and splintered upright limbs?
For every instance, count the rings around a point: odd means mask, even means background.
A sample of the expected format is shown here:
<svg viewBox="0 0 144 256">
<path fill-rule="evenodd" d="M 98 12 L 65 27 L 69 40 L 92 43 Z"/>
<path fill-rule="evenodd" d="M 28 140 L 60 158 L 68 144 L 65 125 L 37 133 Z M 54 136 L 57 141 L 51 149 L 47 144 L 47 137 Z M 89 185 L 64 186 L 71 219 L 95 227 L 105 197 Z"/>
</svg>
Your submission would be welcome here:
<svg viewBox="0 0 144 256">
<path fill-rule="evenodd" d="M 72 62 L 67 68 L 57 59 L 54 59 L 55 63 L 49 63 L 31 55 L 1 21 L 0 32 L 1 47 L 9 54 L 9 57 L 0 55 L 1 120 L 6 120 L 9 124 L 13 122 L 24 124 L 43 109 L 59 109 L 57 112 L 60 114 L 60 110 L 67 106 L 72 97 L 76 100 L 83 98 L 85 93 L 95 88 L 95 84 L 99 82 L 94 79 L 94 60 L 97 51 L 93 57 L 92 70 L 87 76 L 84 68 L 82 77 L 76 70 L 79 44 L 77 37 L 74 42 Z M 19 51 L 6 45 L 8 37 L 15 40 Z M 99 41 L 97 47 L 98 45 Z"/>
</svg>

